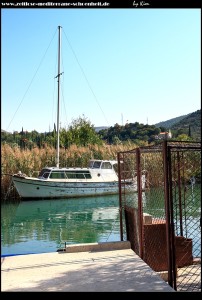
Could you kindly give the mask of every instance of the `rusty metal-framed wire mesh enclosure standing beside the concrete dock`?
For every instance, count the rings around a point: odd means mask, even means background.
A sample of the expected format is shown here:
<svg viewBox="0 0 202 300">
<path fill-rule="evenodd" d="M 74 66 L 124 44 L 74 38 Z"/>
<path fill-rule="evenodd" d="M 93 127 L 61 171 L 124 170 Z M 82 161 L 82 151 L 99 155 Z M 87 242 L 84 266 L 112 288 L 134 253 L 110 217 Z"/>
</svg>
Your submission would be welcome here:
<svg viewBox="0 0 202 300">
<path fill-rule="evenodd" d="M 118 161 L 121 239 L 175 290 L 200 291 L 201 144 L 164 141 Z"/>
</svg>

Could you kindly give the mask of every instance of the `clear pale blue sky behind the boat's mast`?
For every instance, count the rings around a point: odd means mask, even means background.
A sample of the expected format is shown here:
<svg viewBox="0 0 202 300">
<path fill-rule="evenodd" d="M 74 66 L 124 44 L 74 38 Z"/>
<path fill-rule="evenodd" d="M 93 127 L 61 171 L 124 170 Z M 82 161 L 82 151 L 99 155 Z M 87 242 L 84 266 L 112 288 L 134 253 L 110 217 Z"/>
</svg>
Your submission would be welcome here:
<svg viewBox="0 0 202 300">
<path fill-rule="evenodd" d="M 1 128 L 155 124 L 201 108 L 200 9 L 2 9 Z"/>
</svg>

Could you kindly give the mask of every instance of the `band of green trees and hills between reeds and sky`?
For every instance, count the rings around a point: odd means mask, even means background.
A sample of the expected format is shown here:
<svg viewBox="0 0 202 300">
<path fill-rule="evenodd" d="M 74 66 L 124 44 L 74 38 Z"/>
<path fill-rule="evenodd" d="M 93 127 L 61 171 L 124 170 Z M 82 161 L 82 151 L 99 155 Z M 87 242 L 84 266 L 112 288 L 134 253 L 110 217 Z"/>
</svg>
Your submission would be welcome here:
<svg viewBox="0 0 202 300">
<path fill-rule="evenodd" d="M 167 127 L 169 121 L 161 122 L 161 126 L 144 125 L 138 122 L 128 123 L 124 126 L 115 124 L 114 127 L 101 127 L 101 130 L 91 125 L 84 116 L 72 121 L 68 129 L 60 130 L 60 147 L 69 148 L 75 144 L 86 147 L 88 145 L 102 145 L 103 142 L 109 145 L 118 145 L 131 141 L 137 145 L 141 142 L 156 144 L 160 132 L 171 130 L 172 139 L 179 140 L 201 140 L 201 110 L 187 116 L 178 117 L 172 120 L 172 126 Z M 180 120 L 180 121 L 179 121 Z M 171 123 L 170 123 L 171 124 Z M 55 126 L 54 126 L 55 127 Z M 33 147 L 44 148 L 46 145 L 56 147 L 56 131 L 38 133 L 37 131 L 20 133 L 9 133 L 4 130 L 1 132 L 1 143 L 18 145 L 21 149 L 32 149 Z"/>
</svg>

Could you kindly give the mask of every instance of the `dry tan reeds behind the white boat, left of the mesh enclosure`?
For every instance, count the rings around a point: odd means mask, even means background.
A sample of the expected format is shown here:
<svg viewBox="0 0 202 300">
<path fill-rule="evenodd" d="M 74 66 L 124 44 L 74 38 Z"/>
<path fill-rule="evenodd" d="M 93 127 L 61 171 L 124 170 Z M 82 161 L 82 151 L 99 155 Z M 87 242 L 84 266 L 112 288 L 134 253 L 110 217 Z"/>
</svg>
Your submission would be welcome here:
<svg viewBox="0 0 202 300">
<path fill-rule="evenodd" d="M 60 149 L 60 167 L 86 167 L 90 159 L 117 159 L 117 153 L 137 147 L 128 142 L 120 145 L 89 145 L 79 147 L 71 145 L 68 149 Z M 8 192 L 17 197 L 12 187 L 12 175 L 21 171 L 27 176 L 38 176 L 43 167 L 55 166 L 55 148 L 33 148 L 22 150 L 18 146 L 2 145 L 1 148 L 1 199 L 5 200 Z M 9 191 L 10 189 L 10 191 Z"/>
</svg>

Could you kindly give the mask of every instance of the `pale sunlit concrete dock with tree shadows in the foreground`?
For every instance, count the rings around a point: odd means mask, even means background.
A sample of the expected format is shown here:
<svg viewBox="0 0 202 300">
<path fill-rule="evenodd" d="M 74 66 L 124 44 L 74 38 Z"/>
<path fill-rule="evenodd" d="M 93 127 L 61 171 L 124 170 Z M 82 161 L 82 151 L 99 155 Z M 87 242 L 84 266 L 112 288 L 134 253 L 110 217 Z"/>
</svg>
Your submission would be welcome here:
<svg viewBox="0 0 202 300">
<path fill-rule="evenodd" d="M 130 242 L 1 258 L 2 292 L 175 292 Z"/>
</svg>

